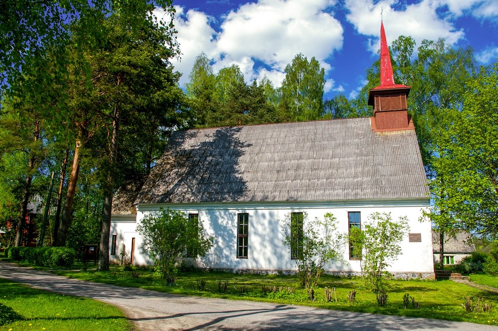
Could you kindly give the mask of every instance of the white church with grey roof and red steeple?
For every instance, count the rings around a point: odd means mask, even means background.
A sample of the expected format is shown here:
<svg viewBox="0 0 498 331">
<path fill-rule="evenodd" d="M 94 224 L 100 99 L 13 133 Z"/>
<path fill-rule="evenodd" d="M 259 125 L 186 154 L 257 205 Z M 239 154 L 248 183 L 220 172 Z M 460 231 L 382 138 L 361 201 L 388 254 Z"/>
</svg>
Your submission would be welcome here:
<svg viewBox="0 0 498 331">
<path fill-rule="evenodd" d="M 338 231 L 361 227 L 374 212 L 407 217 L 402 254 L 388 271 L 433 278 L 432 233 L 420 221 L 429 191 L 417 136 L 407 113 L 410 87 L 394 84 L 381 27 L 381 84 L 372 89 L 373 117 L 191 129 L 174 132 L 143 185 L 120 188 L 113 201 L 111 260 L 125 247 L 136 265 L 151 264 L 136 225 L 160 208 L 180 210 L 204 225 L 213 247 L 202 268 L 294 272 L 281 220 L 333 214 Z M 247 226 L 239 226 L 247 225 Z M 357 274 L 351 256 L 325 271 Z"/>
</svg>

